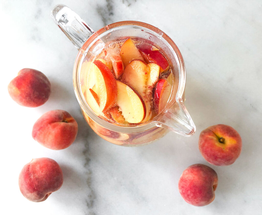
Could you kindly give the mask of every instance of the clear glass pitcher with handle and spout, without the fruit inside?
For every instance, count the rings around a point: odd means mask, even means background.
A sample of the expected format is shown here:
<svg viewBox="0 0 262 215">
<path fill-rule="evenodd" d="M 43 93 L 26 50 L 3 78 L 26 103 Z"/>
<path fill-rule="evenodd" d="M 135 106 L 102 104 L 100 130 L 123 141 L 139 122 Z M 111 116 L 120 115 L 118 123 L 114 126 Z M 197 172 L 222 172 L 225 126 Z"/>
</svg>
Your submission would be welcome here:
<svg viewBox="0 0 262 215">
<path fill-rule="evenodd" d="M 183 57 L 169 36 L 152 25 L 138 21 L 121 21 L 94 32 L 75 12 L 61 4 L 51 11 L 51 17 L 79 50 L 73 71 L 74 91 L 85 120 L 97 135 L 114 144 L 138 146 L 155 141 L 168 131 L 183 136 L 195 133 L 194 122 L 183 103 L 186 79 Z M 174 77 L 165 109 L 152 120 L 132 126 L 119 125 L 97 116 L 81 90 L 81 78 L 85 72 L 83 62 L 92 60 L 106 45 L 120 38 L 142 38 L 157 44 L 164 52 Z"/>
</svg>

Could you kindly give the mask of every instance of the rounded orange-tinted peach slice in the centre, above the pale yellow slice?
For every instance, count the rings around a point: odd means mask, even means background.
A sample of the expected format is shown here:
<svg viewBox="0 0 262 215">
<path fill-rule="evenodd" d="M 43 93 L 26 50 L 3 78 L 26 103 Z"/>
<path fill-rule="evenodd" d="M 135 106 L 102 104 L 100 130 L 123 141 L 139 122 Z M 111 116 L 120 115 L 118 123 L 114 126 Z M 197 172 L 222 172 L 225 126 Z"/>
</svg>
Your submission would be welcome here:
<svg viewBox="0 0 262 215">
<path fill-rule="evenodd" d="M 145 93 L 149 67 L 143 61 L 131 61 L 124 70 L 122 81 L 134 87 L 140 94 Z"/>
</svg>

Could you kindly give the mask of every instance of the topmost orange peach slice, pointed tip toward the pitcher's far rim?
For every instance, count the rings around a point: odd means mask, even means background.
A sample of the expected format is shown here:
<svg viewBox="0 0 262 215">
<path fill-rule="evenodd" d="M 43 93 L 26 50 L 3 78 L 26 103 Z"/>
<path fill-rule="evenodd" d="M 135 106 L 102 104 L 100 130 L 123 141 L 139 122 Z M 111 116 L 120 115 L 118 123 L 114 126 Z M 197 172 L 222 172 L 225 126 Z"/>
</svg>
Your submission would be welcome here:
<svg viewBox="0 0 262 215">
<path fill-rule="evenodd" d="M 127 39 L 120 48 L 120 56 L 123 64 L 126 67 L 132 60 L 144 61 L 141 53 L 135 46 L 135 43 L 131 39 Z"/>
</svg>

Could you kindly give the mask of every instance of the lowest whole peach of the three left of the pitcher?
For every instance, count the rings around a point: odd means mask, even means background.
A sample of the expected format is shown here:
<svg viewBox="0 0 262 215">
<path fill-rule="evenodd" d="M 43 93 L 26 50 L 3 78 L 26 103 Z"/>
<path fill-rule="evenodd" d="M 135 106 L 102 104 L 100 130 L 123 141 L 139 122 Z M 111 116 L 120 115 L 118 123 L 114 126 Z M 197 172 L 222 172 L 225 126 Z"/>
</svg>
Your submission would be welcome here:
<svg viewBox="0 0 262 215">
<path fill-rule="evenodd" d="M 33 202 L 42 202 L 62 186 L 63 172 L 53 159 L 32 159 L 21 170 L 18 184 L 25 198 Z"/>
</svg>

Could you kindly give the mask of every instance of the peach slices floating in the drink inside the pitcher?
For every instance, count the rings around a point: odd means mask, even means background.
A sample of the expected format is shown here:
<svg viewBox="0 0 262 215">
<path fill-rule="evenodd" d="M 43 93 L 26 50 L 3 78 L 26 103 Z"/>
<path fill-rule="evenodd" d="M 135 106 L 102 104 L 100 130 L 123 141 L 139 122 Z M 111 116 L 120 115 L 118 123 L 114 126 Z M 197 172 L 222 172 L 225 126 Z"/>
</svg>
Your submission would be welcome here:
<svg viewBox="0 0 262 215">
<path fill-rule="evenodd" d="M 81 90 L 90 109 L 101 119 L 119 126 L 137 126 L 165 109 L 174 79 L 170 68 L 163 52 L 149 41 L 117 40 L 83 62 Z M 116 137 L 116 144 L 133 144 L 137 138 L 103 132 L 107 129 L 85 118 L 104 139 Z"/>
</svg>

